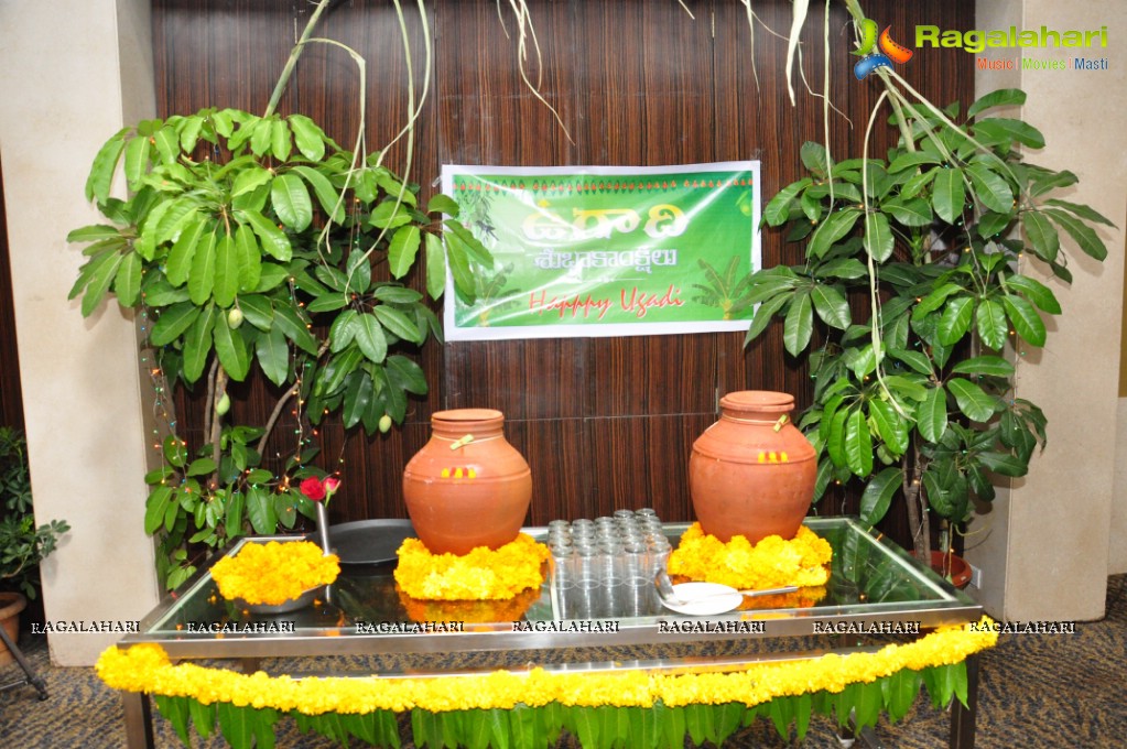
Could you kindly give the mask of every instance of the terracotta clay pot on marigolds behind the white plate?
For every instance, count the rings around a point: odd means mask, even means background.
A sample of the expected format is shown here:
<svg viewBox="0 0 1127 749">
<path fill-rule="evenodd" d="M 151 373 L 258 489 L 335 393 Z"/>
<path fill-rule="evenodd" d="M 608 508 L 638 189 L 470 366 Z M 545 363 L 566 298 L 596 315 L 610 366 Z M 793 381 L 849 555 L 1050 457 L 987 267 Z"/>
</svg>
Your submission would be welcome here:
<svg viewBox="0 0 1127 749">
<path fill-rule="evenodd" d="M 747 390 L 720 400 L 720 420 L 693 444 L 689 492 L 704 533 L 728 542 L 793 538 L 810 509 L 818 466 L 792 423 L 795 398 Z"/>
</svg>

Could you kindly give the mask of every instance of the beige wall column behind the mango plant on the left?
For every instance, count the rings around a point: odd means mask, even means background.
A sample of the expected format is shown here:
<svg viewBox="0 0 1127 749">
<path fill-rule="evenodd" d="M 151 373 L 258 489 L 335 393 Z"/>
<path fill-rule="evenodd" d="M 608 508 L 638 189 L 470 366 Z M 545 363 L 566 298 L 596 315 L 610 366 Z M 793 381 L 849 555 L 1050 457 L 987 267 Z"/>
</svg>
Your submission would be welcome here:
<svg viewBox="0 0 1127 749">
<path fill-rule="evenodd" d="M 82 197 L 98 148 L 154 110 L 149 5 L 6 0 L 0 28 L 0 150 L 32 490 L 38 521 L 65 518 L 73 528 L 43 567 L 46 615 L 137 619 L 158 595 L 142 528 L 134 326 L 116 302 L 83 319 L 66 301 L 82 256 L 65 235 L 99 220 Z M 119 637 L 55 634 L 52 659 L 90 665 Z"/>
</svg>

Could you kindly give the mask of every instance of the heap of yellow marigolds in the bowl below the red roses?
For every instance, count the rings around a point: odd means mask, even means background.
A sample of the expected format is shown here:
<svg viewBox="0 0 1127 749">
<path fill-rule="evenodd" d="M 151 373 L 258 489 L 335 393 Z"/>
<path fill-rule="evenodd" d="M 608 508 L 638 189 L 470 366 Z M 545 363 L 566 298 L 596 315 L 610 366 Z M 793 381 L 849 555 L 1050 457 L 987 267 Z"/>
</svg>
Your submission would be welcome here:
<svg viewBox="0 0 1127 749">
<path fill-rule="evenodd" d="M 309 541 L 248 543 L 238 554 L 215 562 L 211 574 L 228 600 L 278 606 L 331 583 L 340 574 L 340 560 Z"/>
</svg>

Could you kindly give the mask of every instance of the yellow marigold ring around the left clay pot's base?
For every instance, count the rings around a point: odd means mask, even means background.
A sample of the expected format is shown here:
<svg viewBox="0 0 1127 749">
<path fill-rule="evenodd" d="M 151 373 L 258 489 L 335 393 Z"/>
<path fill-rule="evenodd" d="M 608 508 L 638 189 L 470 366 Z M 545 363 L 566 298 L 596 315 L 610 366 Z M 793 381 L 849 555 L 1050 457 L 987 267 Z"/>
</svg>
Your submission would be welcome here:
<svg viewBox="0 0 1127 749">
<path fill-rule="evenodd" d="M 548 547 L 526 534 L 492 550 L 478 546 L 469 554 L 432 554 L 418 538 L 399 547 L 396 582 L 419 600 L 508 600 L 544 581 Z"/>
</svg>

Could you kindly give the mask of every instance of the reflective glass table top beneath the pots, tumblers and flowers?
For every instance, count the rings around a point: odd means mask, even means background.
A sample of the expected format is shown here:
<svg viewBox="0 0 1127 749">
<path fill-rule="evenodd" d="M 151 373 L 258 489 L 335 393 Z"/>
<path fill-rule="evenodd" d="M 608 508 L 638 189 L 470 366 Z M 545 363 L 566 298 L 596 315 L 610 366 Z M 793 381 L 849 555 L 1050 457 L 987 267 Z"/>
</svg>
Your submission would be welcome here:
<svg viewBox="0 0 1127 749">
<path fill-rule="evenodd" d="M 689 524 L 665 524 L 676 547 Z M 700 639 L 899 633 L 976 619 L 980 607 L 889 541 L 849 517 L 805 525 L 834 550 L 828 582 L 793 594 L 747 597 L 737 610 L 685 616 L 662 606 L 653 586 L 575 601 L 553 586 L 509 601 L 423 601 L 396 586 L 394 565 L 341 564 L 310 606 L 254 614 L 224 600 L 207 569 L 168 596 L 123 644 L 159 642 L 172 657 L 257 657 L 340 652 L 441 652 L 685 642 Z M 547 529 L 525 528 L 542 540 Z M 295 536 L 241 538 L 247 543 Z"/>
</svg>

